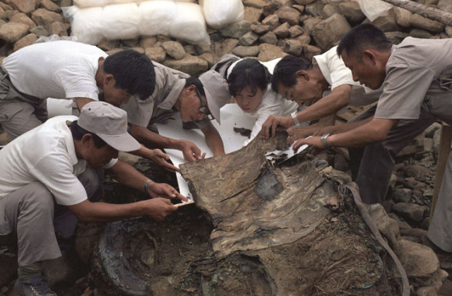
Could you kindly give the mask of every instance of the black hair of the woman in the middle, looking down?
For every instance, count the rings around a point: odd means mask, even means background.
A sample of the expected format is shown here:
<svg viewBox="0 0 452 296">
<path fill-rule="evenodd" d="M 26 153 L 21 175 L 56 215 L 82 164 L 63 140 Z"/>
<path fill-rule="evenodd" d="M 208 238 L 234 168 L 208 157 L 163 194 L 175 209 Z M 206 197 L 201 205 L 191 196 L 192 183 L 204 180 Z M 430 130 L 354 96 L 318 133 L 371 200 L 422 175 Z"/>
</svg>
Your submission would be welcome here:
<svg viewBox="0 0 452 296">
<path fill-rule="evenodd" d="M 227 77 L 229 92 L 234 97 L 239 95 L 243 88 L 249 86 L 253 95 L 257 89 L 265 91 L 271 80 L 271 74 L 266 66 L 256 59 L 243 59 L 239 61 Z"/>
</svg>

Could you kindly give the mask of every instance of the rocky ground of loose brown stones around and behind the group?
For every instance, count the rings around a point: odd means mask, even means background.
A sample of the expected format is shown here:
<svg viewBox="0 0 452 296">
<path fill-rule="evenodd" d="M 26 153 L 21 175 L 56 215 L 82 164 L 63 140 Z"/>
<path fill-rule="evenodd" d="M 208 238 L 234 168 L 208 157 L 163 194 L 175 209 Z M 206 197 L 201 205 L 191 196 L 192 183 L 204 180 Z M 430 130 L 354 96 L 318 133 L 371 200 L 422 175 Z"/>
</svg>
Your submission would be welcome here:
<svg viewBox="0 0 452 296">
<path fill-rule="evenodd" d="M 450 0 L 416 2 L 452 13 Z M 105 40 L 97 46 L 109 53 L 133 48 L 154 61 L 196 76 L 227 53 L 261 61 L 286 54 L 311 59 L 336 45 L 352 26 L 369 22 L 355 1 L 244 0 L 243 3 L 244 20 L 222 30 L 208 29 L 210 46 L 191 45 L 165 36 Z M 70 25 L 62 16 L 61 6 L 71 4 L 71 0 L 1 0 L 0 57 L 31 45 L 41 36 L 70 35 Z M 407 36 L 452 37 L 451 26 L 397 7 L 372 23 L 396 44 Z M 439 123 L 432 125 L 398 155 L 388 200 L 383 207 L 369 208 L 374 220 L 379 221 L 383 236 L 404 264 L 412 295 L 452 295 L 452 284 L 448 279 L 452 259 L 426 247 L 428 242 L 424 239 L 432 203 L 440 127 Z M 328 161 L 336 170 L 349 172 L 347 159 L 340 153 L 326 152 L 317 157 Z M 145 160 L 132 162 L 153 179 L 176 186 L 174 175 Z M 105 199 L 119 202 L 124 196 L 129 201 L 143 198 L 106 180 Z M 172 219 L 189 215 L 187 219 L 191 219 L 195 229 L 198 225 L 208 228 L 208 221 L 194 206 L 179 212 Z M 81 225 L 73 242 L 61 242 L 65 256 L 46 264 L 49 283 L 59 295 L 96 295 L 95 279 L 90 277 L 91 254 L 102 227 Z M 8 295 L 15 277 L 14 250 L 0 249 L 0 295 Z"/>
</svg>

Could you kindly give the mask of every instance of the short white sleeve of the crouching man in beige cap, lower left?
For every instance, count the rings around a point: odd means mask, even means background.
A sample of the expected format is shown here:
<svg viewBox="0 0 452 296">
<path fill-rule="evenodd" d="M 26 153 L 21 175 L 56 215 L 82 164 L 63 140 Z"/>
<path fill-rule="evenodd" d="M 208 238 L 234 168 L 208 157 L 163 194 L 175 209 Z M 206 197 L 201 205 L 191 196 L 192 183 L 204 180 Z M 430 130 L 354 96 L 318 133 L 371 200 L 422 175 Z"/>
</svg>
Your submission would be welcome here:
<svg viewBox="0 0 452 296">
<path fill-rule="evenodd" d="M 55 170 L 55 164 L 58 170 Z M 73 174 L 69 155 L 49 153 L 37 160 L 30 168 L 31 174 L 42 182 L 54 196 L 59 205 L 73 206 L 88 199 L 85 188 Z"/>
</svg>

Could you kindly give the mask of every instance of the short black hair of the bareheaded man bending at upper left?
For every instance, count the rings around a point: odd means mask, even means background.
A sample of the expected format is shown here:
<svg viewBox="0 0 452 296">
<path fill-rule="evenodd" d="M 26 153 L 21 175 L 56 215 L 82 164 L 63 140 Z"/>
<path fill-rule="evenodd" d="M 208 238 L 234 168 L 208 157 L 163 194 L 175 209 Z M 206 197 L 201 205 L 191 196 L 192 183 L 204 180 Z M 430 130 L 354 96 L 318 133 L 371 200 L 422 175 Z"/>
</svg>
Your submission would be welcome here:
<svg viewBox="0 0 452 296">
<path fill-rule="evenodd" d="M 140 100 L 146 100 L 154 92 L 154 65 L 145 54 L 136 50 L 127 49 L 108 56 L 102 69 L 114 76 L 115 87 L 127 90 Z"/>
</svg>

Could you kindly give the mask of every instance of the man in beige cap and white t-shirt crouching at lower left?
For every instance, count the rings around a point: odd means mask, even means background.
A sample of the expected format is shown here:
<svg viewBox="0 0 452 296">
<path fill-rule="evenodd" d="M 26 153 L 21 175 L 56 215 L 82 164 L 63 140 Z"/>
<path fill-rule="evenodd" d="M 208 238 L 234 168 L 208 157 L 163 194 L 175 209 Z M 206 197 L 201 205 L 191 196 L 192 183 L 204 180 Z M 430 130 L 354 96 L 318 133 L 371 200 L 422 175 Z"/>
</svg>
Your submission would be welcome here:
<svg viewBox="0 0 452 296">
<path fill-rule="evenodd" d="M 19 295 L 56 295 L 41 275 L 41 261 L 61 256 L 59 230 L 81 222 L 110 222 L 148 215 L 162 220 L 186 201 L 168 184 L 157 184 L 126 162 L 118 150 L 141 145 L 127 133 L 126 112 L 89 102 L 80 117 L 61 116 L 19 136 L 0 150 L 0 245 L 17 244 Z M 128 204 L 93 203 L 100 169 L 153 199 Z M 66 210 L 66 211 L 65 211 Z M 68 211 L 71 214 L 68 215 Z M 61 219 L 64 217 L 65 219 Z"/>
</svg>

